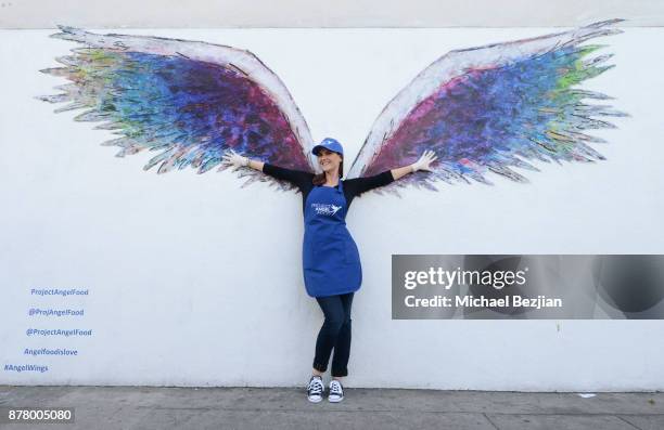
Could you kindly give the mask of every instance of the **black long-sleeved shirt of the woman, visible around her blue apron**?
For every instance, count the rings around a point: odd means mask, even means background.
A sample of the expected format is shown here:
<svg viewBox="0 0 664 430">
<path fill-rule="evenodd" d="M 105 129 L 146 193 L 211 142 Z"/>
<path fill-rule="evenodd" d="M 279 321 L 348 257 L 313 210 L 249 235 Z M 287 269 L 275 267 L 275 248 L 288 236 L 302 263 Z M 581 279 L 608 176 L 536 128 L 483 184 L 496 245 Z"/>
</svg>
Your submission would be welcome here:
<svg viewBox="0 0 664 430">
<path fill-rule="evenodd" d="M 270 165 L 265 162 L 263 165 L 263 172 L 270 177 L 289 181 L 299 188 L 302 193 L 302 211 L 304 213 L 306 208 L 307 196 L 309 192 L 314 190 L 314 183 L 311 182 L 315 174 L 303 170 L 286 169 L 283 167 Z M 353 199 L 362 193 L 379 186 L 387 185 L 394 181 L 392 171 L 385 170 L 382 173 L 367 178 L 354 178 L 348 180 L 341 180 L 344 185 L 344 196 L 346 197 L 346 210 L 350 207 Z M 320 186 L 320 185 L 319 185 Z"/>
</svg>

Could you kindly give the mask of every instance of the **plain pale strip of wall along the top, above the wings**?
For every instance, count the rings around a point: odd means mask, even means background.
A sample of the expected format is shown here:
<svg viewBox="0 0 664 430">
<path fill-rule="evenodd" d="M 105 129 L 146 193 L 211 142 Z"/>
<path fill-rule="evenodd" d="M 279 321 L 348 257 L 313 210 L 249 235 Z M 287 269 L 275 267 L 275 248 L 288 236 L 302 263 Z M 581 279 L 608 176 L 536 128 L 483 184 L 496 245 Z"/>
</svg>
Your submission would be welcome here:
<svg viewBox="0 0 664 430">
<path fill-rule="evenodd" d="M 0 28 L 663 26 L 660 0 L 3 0 Z"/>
</svg>

